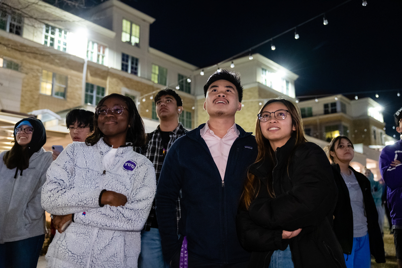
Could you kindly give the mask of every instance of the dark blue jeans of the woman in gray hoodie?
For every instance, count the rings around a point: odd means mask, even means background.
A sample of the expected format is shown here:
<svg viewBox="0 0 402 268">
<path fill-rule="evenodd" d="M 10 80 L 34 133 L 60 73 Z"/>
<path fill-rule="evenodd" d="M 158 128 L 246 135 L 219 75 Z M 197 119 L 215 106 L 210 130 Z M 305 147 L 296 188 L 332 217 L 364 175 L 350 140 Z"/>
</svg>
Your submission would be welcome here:
<svg viewBox="0 0 402 268">
<path fill-rule="evenodd" d="M 45 235 L 0 244 L 0 268 L 36 268 Z"/>
</svg>

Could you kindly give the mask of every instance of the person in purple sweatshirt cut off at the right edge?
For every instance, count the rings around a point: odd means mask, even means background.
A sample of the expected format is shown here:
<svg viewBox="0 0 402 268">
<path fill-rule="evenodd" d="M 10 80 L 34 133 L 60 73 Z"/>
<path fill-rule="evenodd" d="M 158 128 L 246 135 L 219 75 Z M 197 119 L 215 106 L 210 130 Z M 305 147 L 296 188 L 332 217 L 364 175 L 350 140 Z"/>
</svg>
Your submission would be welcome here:
<svg viewBox="0 0 402 268">
<path fill-rule="evenodd" d="M 381 151 L 379 167 L 387 191 L 398 267 L 402 268 L 402 108 L 393 115 L 400 140 Z"/>
</svg>

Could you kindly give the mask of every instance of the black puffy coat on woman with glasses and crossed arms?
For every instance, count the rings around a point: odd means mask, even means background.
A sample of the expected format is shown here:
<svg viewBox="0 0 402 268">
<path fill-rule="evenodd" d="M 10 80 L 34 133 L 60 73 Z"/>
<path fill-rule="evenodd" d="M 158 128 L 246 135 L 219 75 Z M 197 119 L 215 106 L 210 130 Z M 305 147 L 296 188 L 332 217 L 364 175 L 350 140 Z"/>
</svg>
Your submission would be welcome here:
<svg viewBox="0 0 402 268">
<path fill-rule="evenodd" d="M 294 267 L 346 267 L 342 248 L 332 229 L 337 188 L 324 151 L 306 142 L 294 148 L 295 140 L 275 152 L 276 166 L 266 157 L 250 172 L 261 188 L 249 210 L 239 208 L 236 218 L 241 245 L 252 251 L 249 267 L 268 267 L 274 250 L 290 245 Z M 287 159 L 289 159 L 287 166 Z M 273 176 L 275 198 L 267 191 L 267 176 Z M 282 230 L 302 231 L 282 239 Z"/>
</svg>

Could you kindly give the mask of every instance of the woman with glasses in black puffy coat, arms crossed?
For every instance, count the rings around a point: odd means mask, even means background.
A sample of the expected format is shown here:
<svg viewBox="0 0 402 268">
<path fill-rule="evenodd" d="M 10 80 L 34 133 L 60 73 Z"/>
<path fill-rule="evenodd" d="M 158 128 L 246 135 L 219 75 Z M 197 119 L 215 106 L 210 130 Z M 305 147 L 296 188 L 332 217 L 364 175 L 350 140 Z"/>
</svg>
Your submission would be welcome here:
<svg viewBox="0 0 402 268">
<path fill-rule="evenodd" d="M 248 267 L 345 267 L 332 230 L 336 185 L 324 151 L 307 142 L 289 101 L 257 116 L 258 156 L 248 170 L 236 226 Z"/>
</svg>

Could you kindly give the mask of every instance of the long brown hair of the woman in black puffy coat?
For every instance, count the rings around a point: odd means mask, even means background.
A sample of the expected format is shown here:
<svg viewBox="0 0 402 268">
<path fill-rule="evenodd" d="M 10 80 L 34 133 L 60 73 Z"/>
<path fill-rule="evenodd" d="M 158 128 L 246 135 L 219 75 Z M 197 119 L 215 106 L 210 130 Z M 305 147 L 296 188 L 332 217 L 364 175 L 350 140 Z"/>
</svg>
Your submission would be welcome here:
<svg viewBox="0 0 402 268">
<path fill-rule="evenodd" d="M 288 115 L 290 115 L 292 118 L 292 126 L 296 129 L 291 134 L 292 137 L 296 140 L 294 148 L 296 148 L 298 145 L 300 145 L 302 143 L 307 142 L 305 134 L 304 134 L 302 116 L 300 116 L 299 110 L 290 101 L 285 100 L 285 99 L 269 100 L 261 108 L 259 113 L 261 113 L 266 106 L 270 105 L 271 103 L 276 103 L 276 102 L 282 103 L 284 106 L 286 106 L 287 110 L 289 111 Z M 273 151 L 272 146 L 269 143 L 268 139 L 266 139 L 264 137 L 264 135 L 262 134 L 260 121 L 258 120 L 258 118 L 255 123 L 255 139 L 257 141 L 257 146 L 258 146 L 258 154 L 257 154 L 257 159 L 255 160 L 255 163 L 260 162 L 260 161 L 265 161 L 266 158 L 270 159 L 270 161 L 272 163 L 274 163 L 275 152 Z M 291 155 L 292 154 L 290 154 L 289 157 L 291 157 Z M 289 160 L 289 159 L 287 159 L 287 160 Z M 250 171 L 248 171 L 247 179 L 244 184 L 243 194 L 241 196 L 241 205 L 248 209 L 251 202 L 257 197 L 260 187 L 261 187 L 260 180 L 256 179 L 254 174 L 252 174 Z M 272 189 L 272 175 L 270 175 L 268 177 L 267 187 L 268 187 L 269 195 L 271 197 L 274 197 L 275 194 Z"/>
</svg>

